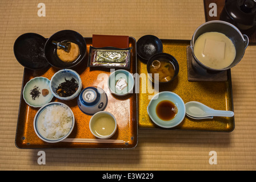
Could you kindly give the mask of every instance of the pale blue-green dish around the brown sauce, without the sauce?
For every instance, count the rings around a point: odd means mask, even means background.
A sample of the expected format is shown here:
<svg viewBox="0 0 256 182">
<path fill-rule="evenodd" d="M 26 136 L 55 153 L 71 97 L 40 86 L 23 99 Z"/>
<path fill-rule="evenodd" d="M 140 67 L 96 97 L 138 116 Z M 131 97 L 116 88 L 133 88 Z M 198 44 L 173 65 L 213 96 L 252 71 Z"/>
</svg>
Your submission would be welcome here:
<svg viewBox="0 0 256 182">
<path fill-rule="evenodd" d="M 159 102 L 165 100 L 173 102 L 173 104 L 175 104 L 178 109 L 178 113 L 173 119 L 170 119 L 169 121 L 163 121 L 157 116 L 156 113 L 156 108 Z M 181 97 L 173 92 L 165 91 L 155 94 L 155 96 L 151 99 L 149 105 L 147 106 L 147 113 L 156 125 L 163 128 L 172 128 L 179 125 L 183 121 L 186 115 L 186 107 Z"/>
</svg>

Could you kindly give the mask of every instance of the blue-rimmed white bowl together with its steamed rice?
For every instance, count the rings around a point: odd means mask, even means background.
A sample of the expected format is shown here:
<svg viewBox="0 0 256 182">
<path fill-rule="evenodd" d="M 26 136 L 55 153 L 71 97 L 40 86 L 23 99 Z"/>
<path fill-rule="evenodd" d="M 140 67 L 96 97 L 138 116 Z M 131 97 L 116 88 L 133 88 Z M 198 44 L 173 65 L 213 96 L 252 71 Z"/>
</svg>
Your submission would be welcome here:
<svg viewBox="0 0 256 182">
<path fill-rule="evenodd" d="M 35 133 L 45 142 L 60 142 L 71 133 L 73 127 L 74 114 L 69 106 L 61 102 L 51 102 L 35 115 Z"/>
</svg>

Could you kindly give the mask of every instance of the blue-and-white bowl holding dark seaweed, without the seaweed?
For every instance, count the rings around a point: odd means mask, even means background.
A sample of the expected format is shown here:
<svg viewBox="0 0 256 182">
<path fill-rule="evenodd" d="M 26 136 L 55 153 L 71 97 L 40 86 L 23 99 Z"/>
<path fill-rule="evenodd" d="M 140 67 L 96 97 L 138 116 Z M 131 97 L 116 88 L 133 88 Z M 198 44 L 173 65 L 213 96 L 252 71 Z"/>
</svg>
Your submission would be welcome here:
<svg viewBox="0 0 256 182">
<path fill-rule="evenodd" d="M 78 89 L 77 92 L 75 92 L 72 96 L 69 97 L 60 97 L 57 92 L 56 88 L 61 84 L 62 82 L 66 80 L 70 80 L 71 78 L 74 78 L 78 83 Z M 58 72 L 56 72 L 53 77 L 51 77 L 50 82 L 50 89 L 51 93 L 53 93 L 54 97 L 59 98 L 60 100 L 73 100 L 75 97 L 79 95 L 82 89 L 82 80 L 81 77 L 78 75 L 77 72 L 75 72 L 72 69 L 61 69 Z"/>
</svg>

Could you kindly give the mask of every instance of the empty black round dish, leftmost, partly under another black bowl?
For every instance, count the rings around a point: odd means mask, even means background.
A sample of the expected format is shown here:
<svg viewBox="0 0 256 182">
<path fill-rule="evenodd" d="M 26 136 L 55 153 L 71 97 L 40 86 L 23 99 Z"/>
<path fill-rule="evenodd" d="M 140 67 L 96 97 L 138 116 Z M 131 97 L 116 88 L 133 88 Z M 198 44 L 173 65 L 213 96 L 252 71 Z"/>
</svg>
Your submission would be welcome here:
<svg viewBox="0 0 256 182">
<path fill-rule="evenodd" d="M 46 68 L 49 63 L 43 53 L 45 43 L 46 39 L 42 35 L 22 34 L 14 42 L 14 56 L 25 68 L 33 70 Z"/>
</svg>

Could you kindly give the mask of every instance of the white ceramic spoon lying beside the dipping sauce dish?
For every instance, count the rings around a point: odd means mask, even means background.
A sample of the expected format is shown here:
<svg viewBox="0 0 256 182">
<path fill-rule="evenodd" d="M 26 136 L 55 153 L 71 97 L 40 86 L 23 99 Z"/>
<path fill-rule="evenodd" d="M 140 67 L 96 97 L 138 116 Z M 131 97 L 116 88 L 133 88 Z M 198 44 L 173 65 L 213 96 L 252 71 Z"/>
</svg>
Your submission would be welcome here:
<svg viewBox="0 0 256 182">
<path fill-rule="evenodd" d="M 226 110 L 215 110 L 212 109 L 201 102 L 191 101 L 185 104 L 186 114 L 194 119 L 205 119 L 205 118 L 213 118 L 217 117 L 233 117 L 233 111 Z"/>
</svg>

